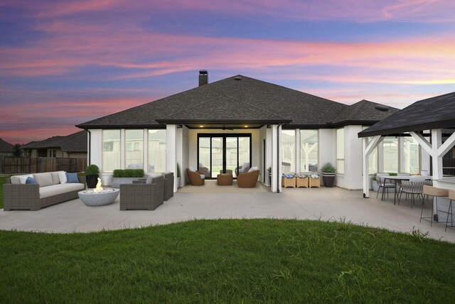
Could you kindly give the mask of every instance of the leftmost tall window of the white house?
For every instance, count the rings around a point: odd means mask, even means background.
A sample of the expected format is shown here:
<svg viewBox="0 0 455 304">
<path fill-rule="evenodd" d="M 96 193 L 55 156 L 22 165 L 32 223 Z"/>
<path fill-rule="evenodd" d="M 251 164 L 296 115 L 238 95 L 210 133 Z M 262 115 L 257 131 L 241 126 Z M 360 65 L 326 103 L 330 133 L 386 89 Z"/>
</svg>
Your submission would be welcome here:
<svg viewBox="0 0 455 304">
<path fill-rule="evenodd" d="M 102 170 L 112 172 L 120 168 L 120 130 L 102 131 Z"/>
</svg>

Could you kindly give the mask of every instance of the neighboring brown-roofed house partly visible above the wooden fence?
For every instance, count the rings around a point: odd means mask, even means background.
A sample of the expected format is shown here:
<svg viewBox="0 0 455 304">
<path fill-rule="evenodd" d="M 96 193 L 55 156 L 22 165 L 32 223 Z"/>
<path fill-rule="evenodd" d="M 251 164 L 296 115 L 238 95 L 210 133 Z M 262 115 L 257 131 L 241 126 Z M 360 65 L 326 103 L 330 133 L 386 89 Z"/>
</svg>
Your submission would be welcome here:
<svg viewBox="0 0 455 304">
<path fill-rule="evenodd" d="M 87 158 L 87 131 L 31 141 L 21 146 L 21 150 L 27 157 Z"/>
</svg>

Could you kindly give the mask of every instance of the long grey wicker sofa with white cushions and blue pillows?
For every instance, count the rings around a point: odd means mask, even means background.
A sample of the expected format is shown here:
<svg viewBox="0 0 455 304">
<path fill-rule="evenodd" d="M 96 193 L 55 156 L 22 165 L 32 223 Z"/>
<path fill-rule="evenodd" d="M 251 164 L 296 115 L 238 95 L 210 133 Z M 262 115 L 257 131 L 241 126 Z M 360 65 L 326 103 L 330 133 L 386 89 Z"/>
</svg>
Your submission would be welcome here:
<svg viewBox="0 0 455 304">
<path fill-rule="evenodd" d="M 40 210 L 74 200 L 79 197 L 77 192 L 85 189 L 85 176 L 77 176 L 79 183 L 60 183 L 58 172 L 35 173 L 38 184 L 23 184 L 21 176 L 26 175 L 13 175 L 3 185 L 5 211 Z"/>
</svg>

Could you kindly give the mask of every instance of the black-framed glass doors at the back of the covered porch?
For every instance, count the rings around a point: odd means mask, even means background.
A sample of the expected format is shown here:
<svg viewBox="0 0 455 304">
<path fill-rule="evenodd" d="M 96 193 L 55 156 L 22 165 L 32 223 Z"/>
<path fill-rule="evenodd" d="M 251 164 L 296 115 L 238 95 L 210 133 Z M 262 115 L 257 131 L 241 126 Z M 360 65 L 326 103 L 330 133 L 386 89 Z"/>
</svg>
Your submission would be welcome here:
<svg viewBox="0 0 455 304">
<path fill-rule="evenodd" d="M 205 178 L 220 173 L 236 178 L 244 163 L 251 165 L 251 134 L 198 134 L 198 169 Z"/>
</svg>

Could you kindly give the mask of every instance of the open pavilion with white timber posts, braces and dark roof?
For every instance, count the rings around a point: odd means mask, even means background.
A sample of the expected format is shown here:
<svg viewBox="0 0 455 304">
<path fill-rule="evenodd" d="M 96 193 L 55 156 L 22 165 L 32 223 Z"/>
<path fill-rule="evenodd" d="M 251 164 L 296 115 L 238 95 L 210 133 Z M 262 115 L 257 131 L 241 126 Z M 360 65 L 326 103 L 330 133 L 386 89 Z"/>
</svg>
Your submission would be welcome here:
<svg viewBox="0 0 455 304">
<path fill-rule="evenodd" d="M 368 156 L 385 136 L 412 136 L 429 153 L 434 185 L 447 188 L 442 157 L 455 144 L 455 92 L 414 102 L 358 133 L 363 146 L 363 197 L 370 197 Z"/>
</svg>

